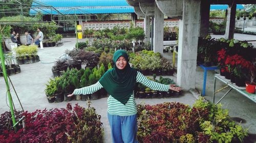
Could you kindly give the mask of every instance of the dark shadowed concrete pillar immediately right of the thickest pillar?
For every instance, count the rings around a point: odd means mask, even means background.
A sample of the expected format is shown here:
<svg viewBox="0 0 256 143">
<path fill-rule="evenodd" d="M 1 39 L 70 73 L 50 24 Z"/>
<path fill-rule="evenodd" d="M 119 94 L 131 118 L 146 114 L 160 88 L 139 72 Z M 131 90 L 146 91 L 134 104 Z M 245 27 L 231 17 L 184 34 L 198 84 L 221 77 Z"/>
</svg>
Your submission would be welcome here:
<svg viewBox="0 0 256 143">
<path fill-rule="evenodd" d="M 201 1 L 200 37 L 205 38 L 208 35 L 209 19 L 210 19 L 210 3 L 209 1 Z"/>
</svg>

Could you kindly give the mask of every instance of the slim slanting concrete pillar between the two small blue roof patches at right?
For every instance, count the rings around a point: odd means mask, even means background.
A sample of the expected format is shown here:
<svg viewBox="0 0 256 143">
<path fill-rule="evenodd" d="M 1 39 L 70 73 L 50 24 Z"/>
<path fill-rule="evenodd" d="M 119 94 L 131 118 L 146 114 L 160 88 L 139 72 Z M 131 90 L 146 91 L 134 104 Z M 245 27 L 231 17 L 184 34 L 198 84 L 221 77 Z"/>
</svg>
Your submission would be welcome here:
<svg viewBox="0 0 256 143">
<path fill-rule="evenodd" d="M 236 9 L 236 3 L 228 5 L 225 39 L 234 38 L 234 26 L 236 25 Z"/>
</svg>

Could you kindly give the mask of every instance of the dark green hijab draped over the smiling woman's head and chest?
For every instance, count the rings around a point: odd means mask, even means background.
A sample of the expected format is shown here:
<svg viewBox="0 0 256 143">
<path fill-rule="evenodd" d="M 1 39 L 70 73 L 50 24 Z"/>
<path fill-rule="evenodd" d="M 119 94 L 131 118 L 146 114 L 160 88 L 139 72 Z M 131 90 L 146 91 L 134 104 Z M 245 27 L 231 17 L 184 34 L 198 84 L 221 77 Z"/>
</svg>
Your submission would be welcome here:
<svg viewBox="0 0 256 143">
<path fill-rule="evenodd" d="M 116 67 L 116 61 L 120 56 L 123 56 L 127 61 L 127 65 L 122 70 Z M 113 56 L 114 68 L 106 71 L 99 79 L 103 88 L 123 104 L 126 104 L 133 94 L 137 75 L 137 71 L 131 68 L 128 58 L 125 50 L 117 50 Z"/>
</svg>

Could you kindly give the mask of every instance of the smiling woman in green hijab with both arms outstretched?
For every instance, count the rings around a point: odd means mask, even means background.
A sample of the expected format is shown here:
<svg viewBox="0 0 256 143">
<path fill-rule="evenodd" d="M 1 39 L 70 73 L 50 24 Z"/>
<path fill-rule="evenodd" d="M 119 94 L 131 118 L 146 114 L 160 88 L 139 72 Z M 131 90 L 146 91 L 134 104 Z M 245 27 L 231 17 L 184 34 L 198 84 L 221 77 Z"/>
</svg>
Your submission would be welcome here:
<svg viewBox="0 0 256 143">
<path fill-rule="evenodd" d="M 117 50 L 114 53 L 115 66 L 108 70 L 100 80 L 81 89 L 76 89 L 69 97 L 79 94 L 92 94 L 104 88 L 109 94 L 108 119 L 111 127 L 113 142 L 137 142 L 137 108 L 134 99 L 136 82 L 144 84 L 152 90 L 179 92 L 175 85 L 160 84 L 147 79 L 140 72 L 131 68 L 126 51 Z"/>
</svg>

